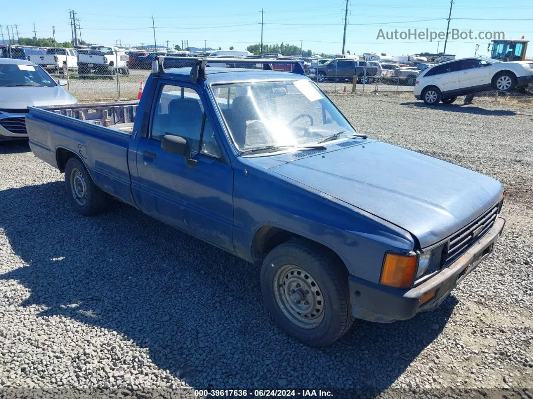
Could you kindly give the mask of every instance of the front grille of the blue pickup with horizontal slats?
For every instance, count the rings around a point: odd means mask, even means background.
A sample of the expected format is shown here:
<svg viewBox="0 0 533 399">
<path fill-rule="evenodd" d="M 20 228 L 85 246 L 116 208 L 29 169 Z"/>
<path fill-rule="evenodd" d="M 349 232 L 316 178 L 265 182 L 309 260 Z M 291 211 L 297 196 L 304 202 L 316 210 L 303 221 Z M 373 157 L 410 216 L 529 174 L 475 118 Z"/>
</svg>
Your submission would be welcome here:
<svg viewBox="0 0 533 399">
<path fill-rule="evenodd" d="M 485 235 L 498 217 L 498 205 L 486 211 L 483 215 L 475 219 L 472 223 L 452 235 L 441 255 L 441 267 L 446 267 L 455 262 L 474 243 L 478 242 Z"/>
</svg>

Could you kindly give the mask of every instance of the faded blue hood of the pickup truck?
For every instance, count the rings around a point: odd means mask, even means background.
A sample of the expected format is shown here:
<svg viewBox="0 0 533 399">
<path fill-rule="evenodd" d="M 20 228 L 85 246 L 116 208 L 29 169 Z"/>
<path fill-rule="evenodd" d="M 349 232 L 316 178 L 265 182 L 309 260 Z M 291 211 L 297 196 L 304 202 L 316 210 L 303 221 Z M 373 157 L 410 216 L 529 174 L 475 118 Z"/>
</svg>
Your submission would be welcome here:
<svg viewBox="0 0 533 399">
<path fill-rule="evenodd" d="M 271 170 L 402 227 L 422 248 L 473 221 L 503 192 L 491 177 L 378 141 Z"/>
</svg>

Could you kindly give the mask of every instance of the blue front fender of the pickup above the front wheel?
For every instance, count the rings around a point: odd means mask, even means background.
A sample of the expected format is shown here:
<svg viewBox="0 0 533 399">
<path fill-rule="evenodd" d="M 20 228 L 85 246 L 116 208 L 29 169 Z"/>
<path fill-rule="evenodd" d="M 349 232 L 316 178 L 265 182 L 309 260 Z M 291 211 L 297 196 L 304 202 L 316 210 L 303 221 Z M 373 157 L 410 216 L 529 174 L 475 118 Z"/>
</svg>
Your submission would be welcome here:
<svg viewBox="0 0 533 399">
<path fill-rule="evenodd" d="M 274 226 L 328 247 L 350 274 L 377 283 L 386 251 L 415 248 L 409 232 L 379 217 L 246 158 L 238 157 L 233 166 L 233 245 L 243 258 L 253 259 L 255 233 L 262 226 Z"/>
</svg>

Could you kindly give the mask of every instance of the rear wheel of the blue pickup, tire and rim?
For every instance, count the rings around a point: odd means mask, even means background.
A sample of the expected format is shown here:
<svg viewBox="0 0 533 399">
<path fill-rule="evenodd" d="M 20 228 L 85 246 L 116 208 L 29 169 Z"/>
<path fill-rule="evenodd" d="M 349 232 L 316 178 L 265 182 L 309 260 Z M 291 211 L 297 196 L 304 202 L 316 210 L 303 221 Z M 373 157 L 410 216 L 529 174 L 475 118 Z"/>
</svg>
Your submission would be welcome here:
<svg viewBox="0 0 533 399">
<path fill-rule="evenodd" d="M 70 205 L 84 216 L 98 215 L 106 207 L 107 196 L 93 182 L 91 175 L 77 157 L 65 165 L 65 183 Z M 85 195 L 82 196 L 82 193 Z"/>
</svg>

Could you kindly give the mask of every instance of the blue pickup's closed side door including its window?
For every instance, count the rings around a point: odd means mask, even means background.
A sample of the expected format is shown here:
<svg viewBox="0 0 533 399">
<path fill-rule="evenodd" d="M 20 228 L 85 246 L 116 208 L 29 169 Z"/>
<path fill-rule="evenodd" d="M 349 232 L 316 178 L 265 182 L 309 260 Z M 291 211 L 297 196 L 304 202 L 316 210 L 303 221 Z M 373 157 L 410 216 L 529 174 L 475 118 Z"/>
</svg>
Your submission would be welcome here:
<svg viewBox="0 0 533 399">
<path fill-rule="evenodd" d="M 213 245 L 233 251 L 233 169 L 201 92 L 159 82 L 147 137 L 140 137 L 135 200 L 143 210 Z M 161 148 L 166 134 L 190 146 L 193 166 Z"/>
</svg>

